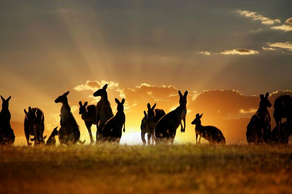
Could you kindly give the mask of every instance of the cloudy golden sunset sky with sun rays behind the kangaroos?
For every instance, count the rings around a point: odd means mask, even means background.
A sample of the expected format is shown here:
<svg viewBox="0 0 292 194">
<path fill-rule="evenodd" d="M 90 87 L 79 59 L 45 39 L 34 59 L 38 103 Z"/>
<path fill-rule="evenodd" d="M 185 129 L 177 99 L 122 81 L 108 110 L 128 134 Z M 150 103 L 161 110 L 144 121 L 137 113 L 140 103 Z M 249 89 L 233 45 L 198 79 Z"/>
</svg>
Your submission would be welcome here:
<svg viewBox="0 0 292 194">
<path fill-rule="evenodd" d="M 78 102 L 96 104 L 105 83 L 114 113 L 114 98 L 126 99 L 126 143 L 141 142 L 146 103 L 167 113 L 178 90 L 189 91 L 178 142 L 194 142 L 190 122 L 204 112 L 203 125 L 244 143 L 259 94 L 274 104 L 291 93 L 291 10 L 289 0 L 0 0 L 0 94 L 12 96 L 18 143 L 23 109 L 43 110 L 49 135 L 59 123 L 54 100 L 67 91 L 89 142 Z"/>
</svg>

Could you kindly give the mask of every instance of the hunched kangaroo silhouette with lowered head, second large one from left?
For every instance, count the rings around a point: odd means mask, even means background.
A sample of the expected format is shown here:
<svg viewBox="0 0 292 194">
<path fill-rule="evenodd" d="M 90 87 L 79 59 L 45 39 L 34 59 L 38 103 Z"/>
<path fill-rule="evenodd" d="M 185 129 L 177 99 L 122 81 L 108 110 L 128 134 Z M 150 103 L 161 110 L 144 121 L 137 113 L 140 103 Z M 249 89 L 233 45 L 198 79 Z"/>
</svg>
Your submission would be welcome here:
<svg viewBox="0 0 292 194">
<path fill-rule="evenodd" d="M 28 112 L 24 109 L 24 134 L 27 141 L 27 145 L 31 146 L 29 142 L 30 135 L 33 135 L 35 145 L 44 144 L 43 132 L 44 125 L 44 113 L 38 108 L 28 107 Z"/>
</svg>

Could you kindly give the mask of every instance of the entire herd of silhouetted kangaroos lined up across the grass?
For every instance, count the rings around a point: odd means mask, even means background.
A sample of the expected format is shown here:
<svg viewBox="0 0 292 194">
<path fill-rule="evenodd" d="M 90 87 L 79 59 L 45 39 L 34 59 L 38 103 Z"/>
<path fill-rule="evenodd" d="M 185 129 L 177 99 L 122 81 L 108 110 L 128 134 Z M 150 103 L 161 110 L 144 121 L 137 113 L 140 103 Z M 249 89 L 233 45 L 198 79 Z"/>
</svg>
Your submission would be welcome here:
<svg viewBox="0 0 292 194">
<path fill-rule="evenodd" d="M 124 113 L 125 99 L 121 101 L 115 98 L 117 103 L 117 113 L 113 115 L 110 102 L 107 94 L 108 84 L 105 84 L 101 89 L 97 90 L 93 96 L 101 97 L 97 105 L 88 105 L 88 102 L 82 104 L 79 102 L 79 114 L 85 122 L 88 129 L 91 144 L 94 143 L 91 126 L 96 125 L 96 143 L 98 142 L 116 142 L 119 144 L 123 131 L 125 132 Z M 80 129 L 71 113 L 71 108 L 68 103 L 69 92 L 57 97 L 55 103 L 62 103 L 60 113 L 60 129 L 56 127 L 46 145 L 55 146 L 55 136 L 58 135 L 60 145 L 73 145 L 76 143 L 83 144 L 80 141 Z M 159 144 L 161 142 L 174 143 L 176 130 L 181 126 L 181 132 L 185 131 L 185 116 L 186 110 L 186 97 L 188 92 L 184 94 L 179 91 L 180 105 L 173 111 L 165 114 L 162 109 L 155 109 L 156 103 L 151 107 L 147 104 L 147 113 L 144 111 L 144 117 L 141 122 L 141 139 L 146 144 L 145 135 L 147 133 L 147 143 Z M 274 102 L 274 119 L 276 127 L 271 130 L 271 116 L 268 107 L 271 107 L 269 93 L 265 96 L 260 95 L 259 108 L 252 116 L 249 124 L 247 125 L 246 139 L 249 144 L 288 144 L 289 136 L 292 134 L 292 97 L 289 95 L 282 95 L 276 98 Z M 8 109 L 9 100 L 2 99 L 2 110 L 0 112 L 0 145 L 12 145 L 15 140 L 13 129 L 10 126 L 10 112 Z M 26 137 L 27 145 L 31 146 L 32 142 L 35 145 L 44 145 L 45 137 L 44 132 L 44 113 L 39 108 L 24 109 L 24 134 Z M 196 118 L 192 121 L 192 125 L 196 125 L 196 143 L 200 143 L 201 137 L 208 140 L 211 144 L 225 144 L 225 137 L 220 129 L 214 126 L 202 126 L 201 117 L 203 114 L 196 114 Z M 286 118 L 286 122 L 281 123 L 282 118 Z M 182 123 L 183 121 L 183 123 Z M 200 135 L 199 142 L 198 136 Z"/>
</svg>

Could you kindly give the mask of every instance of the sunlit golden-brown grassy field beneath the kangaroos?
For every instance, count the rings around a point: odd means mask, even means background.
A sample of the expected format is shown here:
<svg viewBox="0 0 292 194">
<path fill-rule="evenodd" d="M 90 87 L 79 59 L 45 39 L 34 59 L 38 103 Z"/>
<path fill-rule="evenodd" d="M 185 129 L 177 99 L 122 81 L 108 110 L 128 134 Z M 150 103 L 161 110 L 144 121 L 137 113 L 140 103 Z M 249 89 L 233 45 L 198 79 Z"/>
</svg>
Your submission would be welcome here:
<svg viewBox="0 0 292 194">
<path fill-rule="evenodd" d="M 0 147 L 0 194 L 292 193 L 292 146 Z"/>
</svg>

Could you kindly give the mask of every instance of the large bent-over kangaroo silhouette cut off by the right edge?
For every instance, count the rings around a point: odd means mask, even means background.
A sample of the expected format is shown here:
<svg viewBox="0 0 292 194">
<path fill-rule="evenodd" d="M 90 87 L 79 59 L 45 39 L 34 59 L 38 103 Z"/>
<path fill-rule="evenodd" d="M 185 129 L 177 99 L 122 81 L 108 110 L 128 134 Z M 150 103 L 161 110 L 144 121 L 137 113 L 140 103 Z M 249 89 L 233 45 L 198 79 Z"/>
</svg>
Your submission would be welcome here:
<svg viewBox="0 0 292 194">
<path fill-rule="evenodd" d="M 286 141 L 288 139 L 288 126 L 286 126 L 286 131 L 280 131 L 280 126 L 282 124 L 282 118 L 287 118 L 286 124 L 292 122 L 292 97 L 289 95 L 281 95 L 277 97 L 274 101 L 274 119 L 278 128 L 278 143 L 281 141 Z M 284 129 L 284 128 L 282 128 Z"/>
</svg>

